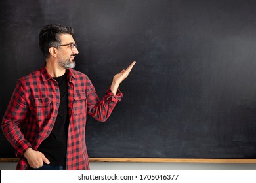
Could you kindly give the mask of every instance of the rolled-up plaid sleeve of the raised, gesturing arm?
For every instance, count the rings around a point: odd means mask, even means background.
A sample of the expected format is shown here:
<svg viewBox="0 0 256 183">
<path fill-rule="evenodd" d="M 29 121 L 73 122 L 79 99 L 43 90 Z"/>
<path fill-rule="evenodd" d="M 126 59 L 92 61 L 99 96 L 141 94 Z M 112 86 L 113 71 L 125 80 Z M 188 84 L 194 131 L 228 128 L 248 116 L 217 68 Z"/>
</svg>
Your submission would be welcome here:
<svg viewBox="0 0 256 183">
<path fill-rule="evenodd" d="M 118 89 L 116 95 L 114 95 L 110 88 L 108 88 L 105 96 L 100 100 L 93 84 L 91 84 L 91 82 L 88 83 L 87 112 L 96 120 L 105 122 L 112 113 L 117 102 L 121 101 L 123 93 Z"/>
</svg>

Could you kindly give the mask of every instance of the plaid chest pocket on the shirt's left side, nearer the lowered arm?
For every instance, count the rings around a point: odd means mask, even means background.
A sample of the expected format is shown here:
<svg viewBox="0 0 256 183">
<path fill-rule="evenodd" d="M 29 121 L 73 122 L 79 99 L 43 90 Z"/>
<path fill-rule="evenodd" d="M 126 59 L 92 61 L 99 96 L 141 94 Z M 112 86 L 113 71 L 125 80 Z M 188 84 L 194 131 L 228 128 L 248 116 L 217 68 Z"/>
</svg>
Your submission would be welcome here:
<svg viewBox="0 0 256 183">
<path fill-rule="evenodd" d="M 53 112 L 53 105 L 50 98 L 34 98 L 32 99 L 32 112 L 37 118 L 38 122 L 44 122 L 51 118 Z"/>
</svg>

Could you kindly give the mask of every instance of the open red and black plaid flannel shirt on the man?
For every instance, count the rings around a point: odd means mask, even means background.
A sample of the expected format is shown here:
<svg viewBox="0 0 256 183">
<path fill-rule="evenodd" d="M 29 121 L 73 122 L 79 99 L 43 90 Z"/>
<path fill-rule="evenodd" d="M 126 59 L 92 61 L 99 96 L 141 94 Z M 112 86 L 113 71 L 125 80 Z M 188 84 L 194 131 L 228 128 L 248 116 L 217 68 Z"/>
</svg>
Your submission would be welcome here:
<svg viewBox="0 0 256 183">
<path fill-rule="evenodd" d="M 89 169 L 85 144 L 87 113 L 104 122 L 110 116 L 123 94 L 114 96 L 110 89 L 99 99 L 89 78 L 73 69 L 68 74 L 68 147 L 66 169 Z M 45 67 L 18 80 L 11 101 L 3 116 L 3 133 L 21 157 L 16 169 L 26 169 L 23 154 L 27 148 L 37 150 L 53 129 L 58 114 L 60 92 L 56 82 Z"/>
</svg>

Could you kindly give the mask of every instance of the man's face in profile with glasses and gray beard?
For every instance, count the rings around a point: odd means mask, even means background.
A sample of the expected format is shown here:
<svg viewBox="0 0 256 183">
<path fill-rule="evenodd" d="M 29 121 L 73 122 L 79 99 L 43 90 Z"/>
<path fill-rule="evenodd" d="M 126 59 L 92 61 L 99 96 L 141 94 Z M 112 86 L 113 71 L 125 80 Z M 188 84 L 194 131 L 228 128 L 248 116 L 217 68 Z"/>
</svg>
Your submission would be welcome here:
<svg viewBox="0 0 256 183">
<path fill-rule="evenodd" d="M 70 34 L 61 34 L 61 45 L 58 47 L 58 67 L 62 69 L 74 68 L 75 67 L 75 56 L 79 53 L 77 48 L 74 46 L 75 41 Z M 73 46 L 71 45 L 73 43 Z"/>
</svg>

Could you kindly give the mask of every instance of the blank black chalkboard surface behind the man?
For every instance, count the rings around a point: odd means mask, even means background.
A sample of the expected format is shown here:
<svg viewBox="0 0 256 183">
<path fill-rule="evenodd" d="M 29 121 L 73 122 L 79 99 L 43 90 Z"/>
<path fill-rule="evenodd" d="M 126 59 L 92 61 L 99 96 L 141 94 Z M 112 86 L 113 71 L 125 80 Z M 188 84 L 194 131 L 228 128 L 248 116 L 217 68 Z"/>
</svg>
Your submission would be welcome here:
<svg viewBox="0 0 256 183">
<path fill-rule="evenodd" d="M 137 64 L 91 158 L 256 158 L 256 1 L 1 1 L 0 117 L 16 80 L 44 64 L 39 31 L 74 27 L 77 69 L 98 95 Z M 3 133 L 1 158 L 14 157 Z"/>
</svg>

